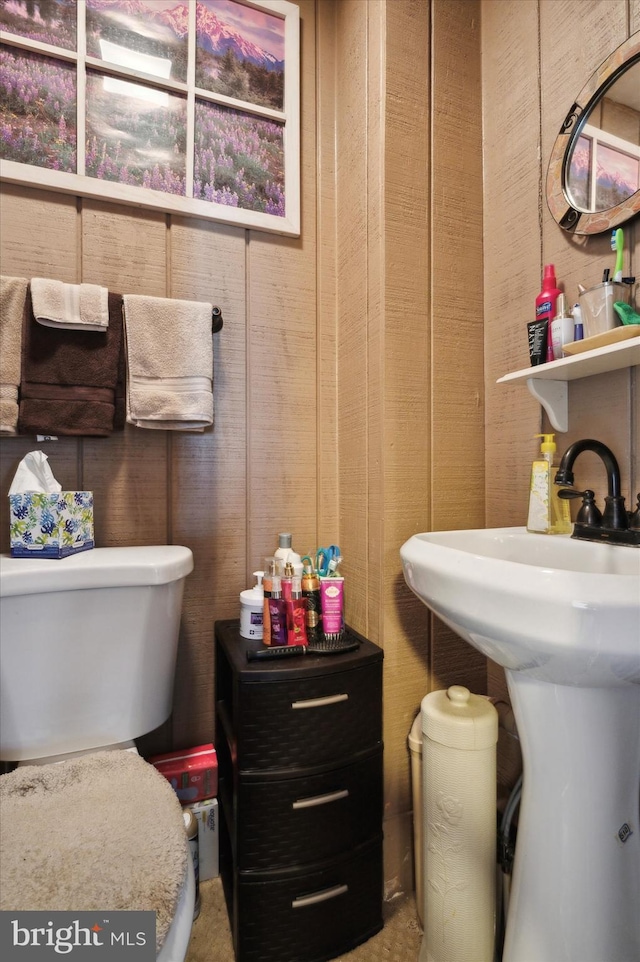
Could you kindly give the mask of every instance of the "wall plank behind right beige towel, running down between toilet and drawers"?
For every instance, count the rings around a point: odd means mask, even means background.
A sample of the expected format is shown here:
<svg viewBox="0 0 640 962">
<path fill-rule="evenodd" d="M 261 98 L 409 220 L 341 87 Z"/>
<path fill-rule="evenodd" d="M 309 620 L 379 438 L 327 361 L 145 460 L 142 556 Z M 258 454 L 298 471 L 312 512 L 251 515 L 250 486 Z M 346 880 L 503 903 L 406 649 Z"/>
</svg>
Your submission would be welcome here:
<svg viewBox="0 0 640 962">
<path fill-rule="evenodd" d="M 171 295 L 219 306 L 213 336 L 214 427 L 176 433 L 170 445 L 171 541 L 188 544 L 194 571 L 185 585 L 174 692 L 178 744 L 211 739 L 215 705 L 213 624 L 235 618 L 250 581 L 246 549 L 245 232 L 204 221 L 171 225 Z"/>
</svg>

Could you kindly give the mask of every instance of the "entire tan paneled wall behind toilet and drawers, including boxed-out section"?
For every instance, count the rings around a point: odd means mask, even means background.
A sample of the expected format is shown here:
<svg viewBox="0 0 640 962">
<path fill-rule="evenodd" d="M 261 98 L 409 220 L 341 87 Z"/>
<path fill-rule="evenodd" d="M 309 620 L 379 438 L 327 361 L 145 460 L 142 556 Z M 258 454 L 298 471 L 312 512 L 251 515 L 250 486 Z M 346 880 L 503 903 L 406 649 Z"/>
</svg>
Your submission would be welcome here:
<svg viewBox="0 0 640 962">
<path fill-rule="evenodd" d="M 213 737 L 213 622 L 238 614 L 278 531 L 300 551 L 342 546 L 348 620 L 385 650 L 392 893 L 411 884 L 420 700 L 485 687 L 482 659 L 430 624 L 398 553 L 417 531 L 484 517 L 478 3 L 437 4 L 432 28 L 423 0 L 300 9 L 300 239 L 10 187 L 2 271 L 222 308 L 212 431 L 127 427 L 47 453 L 65 487 L 94 491 L 99 545 L 194 552 L 173 716 L 147 752 Z M 5 550 L 4 495 L 33 446 L 1 443 Z"/>
</svg>

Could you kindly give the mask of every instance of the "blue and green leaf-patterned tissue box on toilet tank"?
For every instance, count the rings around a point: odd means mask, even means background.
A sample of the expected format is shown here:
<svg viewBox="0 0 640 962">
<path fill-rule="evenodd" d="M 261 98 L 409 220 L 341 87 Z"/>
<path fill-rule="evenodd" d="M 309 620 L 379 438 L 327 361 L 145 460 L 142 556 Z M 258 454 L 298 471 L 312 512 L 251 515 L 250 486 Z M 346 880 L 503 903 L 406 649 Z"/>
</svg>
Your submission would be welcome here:
<svg viewBox="0 0 640 962">
<path fill-rule="evenodd" d="M 66 558 L 93 548 L 93 492 L 9 495 L 13 558 Z"/>
</svg>

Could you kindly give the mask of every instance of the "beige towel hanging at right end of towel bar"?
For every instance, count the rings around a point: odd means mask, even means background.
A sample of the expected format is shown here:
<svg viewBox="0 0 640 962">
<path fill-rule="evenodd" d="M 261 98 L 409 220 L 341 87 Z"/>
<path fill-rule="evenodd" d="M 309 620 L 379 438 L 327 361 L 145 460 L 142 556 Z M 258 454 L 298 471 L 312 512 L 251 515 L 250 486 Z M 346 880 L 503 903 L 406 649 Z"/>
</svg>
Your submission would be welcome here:
<svg viewBox="0 0 640 962">
<path fill-rule="evenodd" d="M 212 305 L 125 294 L 127 421 L 159 431 L 213 424 Z"/>
</svg>

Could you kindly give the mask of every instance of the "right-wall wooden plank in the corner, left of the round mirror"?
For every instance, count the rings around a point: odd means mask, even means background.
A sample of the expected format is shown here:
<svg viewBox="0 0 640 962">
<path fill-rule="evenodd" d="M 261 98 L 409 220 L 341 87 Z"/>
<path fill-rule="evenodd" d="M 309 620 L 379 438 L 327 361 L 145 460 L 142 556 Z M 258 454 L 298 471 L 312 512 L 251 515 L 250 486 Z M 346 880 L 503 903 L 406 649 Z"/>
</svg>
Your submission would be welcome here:
<svg viewBox="0 0 640 962">
<path fill-rule="evenodd" d="M 529 363 L 542 253 L 537 0 L 482 3 L 486 523 L 523 524 L 540 405 L 497 378 Z"/>
</svg>

